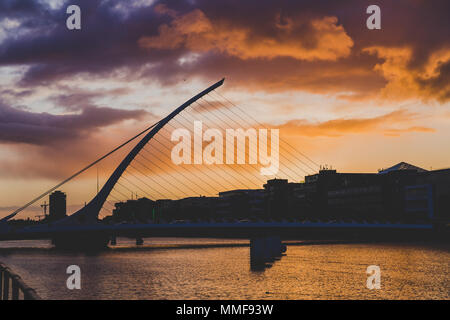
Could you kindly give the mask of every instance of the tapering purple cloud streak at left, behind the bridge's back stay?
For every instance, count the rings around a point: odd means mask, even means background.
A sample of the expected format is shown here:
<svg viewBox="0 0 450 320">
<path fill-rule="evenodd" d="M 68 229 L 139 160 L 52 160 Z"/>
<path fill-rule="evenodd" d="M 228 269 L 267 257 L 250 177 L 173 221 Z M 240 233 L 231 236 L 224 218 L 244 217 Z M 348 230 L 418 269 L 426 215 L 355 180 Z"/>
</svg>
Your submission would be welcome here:
<svg viewBox="0 0 450 320">
<path fill-rule="evenodd" d="M 96 129 L 128 119 L 140 119 L 143 110 L 118 110 L 112 108 L 85 107 L 79 114 L 52 115 L 35 113 L 10 107 L 0 102 L 0 143 L 49 143 L 73 142 Z"/>
</svg>

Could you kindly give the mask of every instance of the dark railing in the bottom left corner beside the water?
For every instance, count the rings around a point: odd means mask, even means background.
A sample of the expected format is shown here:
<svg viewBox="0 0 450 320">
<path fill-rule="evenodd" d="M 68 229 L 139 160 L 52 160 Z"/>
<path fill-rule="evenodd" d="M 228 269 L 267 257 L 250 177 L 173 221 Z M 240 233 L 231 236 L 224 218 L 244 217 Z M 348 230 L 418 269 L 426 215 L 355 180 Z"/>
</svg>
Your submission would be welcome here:
<svg viewBox="0 0 450 320">
<path fill-rule="evenodd" d="M 23 282 L 22 278 L 0 263 L 1 300 L 40 300 L 36 291 Z"/>
</svg>

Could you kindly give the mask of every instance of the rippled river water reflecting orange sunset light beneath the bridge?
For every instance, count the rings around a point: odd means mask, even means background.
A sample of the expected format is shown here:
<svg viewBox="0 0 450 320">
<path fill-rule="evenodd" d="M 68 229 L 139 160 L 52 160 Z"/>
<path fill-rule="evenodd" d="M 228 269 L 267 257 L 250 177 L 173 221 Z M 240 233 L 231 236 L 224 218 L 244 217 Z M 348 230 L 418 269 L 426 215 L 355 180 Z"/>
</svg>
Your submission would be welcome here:
<svg viewBox="0 0 450 320">
<path fill-rule="evenodd" d="M 44 299 L 450 298 L 448 245 L 288 245 L 271 267 L 252 271 L 247 244 L 152 238 L 137 248 L 118 239 L 110 250 L 81 254 L 47 241 L 10 241 L 0 243 L 0 261 Z M 80 290 L 67 289 L 69 265 L 81 269 Z M 366 287 L 369 265 L 380 267 L 379 290 Z"/>
</svg>

